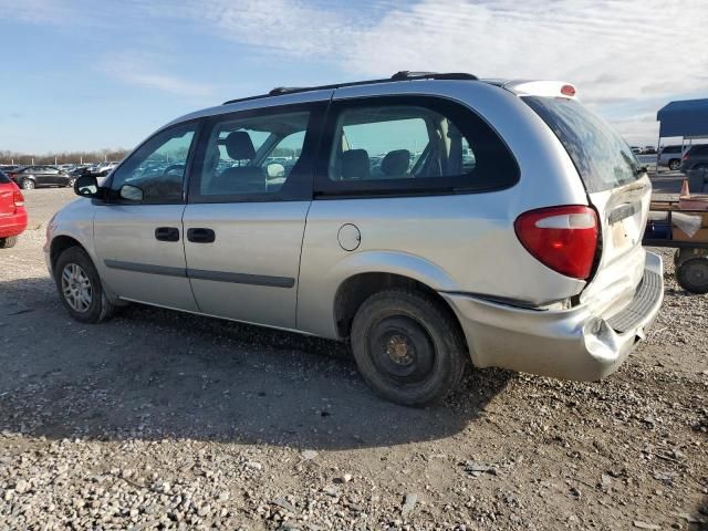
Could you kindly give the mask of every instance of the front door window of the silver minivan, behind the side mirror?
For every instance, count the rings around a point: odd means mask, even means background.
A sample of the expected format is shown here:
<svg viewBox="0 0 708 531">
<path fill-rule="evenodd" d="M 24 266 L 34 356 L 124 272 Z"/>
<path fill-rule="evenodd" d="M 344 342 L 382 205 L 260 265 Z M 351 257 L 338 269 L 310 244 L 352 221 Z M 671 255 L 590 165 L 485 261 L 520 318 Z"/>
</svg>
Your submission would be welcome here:
<svg viewBox="0 0 708 531">
<path fill-rule="evenodd" d="M 114 171 L 111 180 L 114 195 L 123 198 L 142 195 L 144 204 L 181 202 L 187 159 L 196 128 L 195 123 L 179 125 L 143 144 Z M 128 196 L 122 191 L 126 185 L 132 187 Z M 142 194 L 136 196 L 136 188 Z"/>
</svg>

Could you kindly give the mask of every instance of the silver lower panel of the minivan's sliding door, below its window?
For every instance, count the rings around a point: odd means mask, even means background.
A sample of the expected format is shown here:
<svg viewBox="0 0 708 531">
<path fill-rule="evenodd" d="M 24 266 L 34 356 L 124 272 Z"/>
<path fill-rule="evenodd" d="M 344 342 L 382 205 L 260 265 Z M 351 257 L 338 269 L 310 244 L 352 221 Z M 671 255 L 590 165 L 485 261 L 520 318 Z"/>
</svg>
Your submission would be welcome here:
<svg viewBox="0 0 708 531">
<path fill-rule="evenodd" d="M 309 207 L 310 201 L 187 205 L 185 232 L 197 227 L 216 232 L 214 243 L 185 241 L 189 270 L 293 279 L 292 287 L 284 287 L 191 278 L 200 311 L 294 329 L 295 279 Z"/>
</svg>

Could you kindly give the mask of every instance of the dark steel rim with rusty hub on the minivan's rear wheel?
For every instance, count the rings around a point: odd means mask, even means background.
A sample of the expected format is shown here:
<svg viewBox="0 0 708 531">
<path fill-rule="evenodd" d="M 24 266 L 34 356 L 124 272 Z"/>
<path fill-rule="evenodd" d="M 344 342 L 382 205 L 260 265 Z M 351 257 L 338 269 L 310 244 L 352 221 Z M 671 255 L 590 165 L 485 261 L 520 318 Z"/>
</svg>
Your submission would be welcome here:
<svg viewBox="0 0 708 531">
<path fill-rule="evenodd" d="M 435 346 L 426 330 L 406 316 L 386 317 L 369 333 L 368 348 L 378 372 L 396 384 L 416 384 L 429 377 Z"/>
</svg>

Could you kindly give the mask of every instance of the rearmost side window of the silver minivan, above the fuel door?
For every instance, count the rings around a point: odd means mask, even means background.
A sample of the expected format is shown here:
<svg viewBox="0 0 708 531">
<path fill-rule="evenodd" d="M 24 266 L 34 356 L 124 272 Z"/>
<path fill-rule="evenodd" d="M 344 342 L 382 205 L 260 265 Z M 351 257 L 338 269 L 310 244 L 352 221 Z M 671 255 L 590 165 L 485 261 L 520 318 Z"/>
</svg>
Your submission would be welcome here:
<svg viewBox="0 0 708 531">
<path fill-rule="evenodd" d="M 497 133 L 447 100 L 335 102 L 327 122 L 319 194 L 471 192 L 519 179 L 518 165 Z"/>
</svg>

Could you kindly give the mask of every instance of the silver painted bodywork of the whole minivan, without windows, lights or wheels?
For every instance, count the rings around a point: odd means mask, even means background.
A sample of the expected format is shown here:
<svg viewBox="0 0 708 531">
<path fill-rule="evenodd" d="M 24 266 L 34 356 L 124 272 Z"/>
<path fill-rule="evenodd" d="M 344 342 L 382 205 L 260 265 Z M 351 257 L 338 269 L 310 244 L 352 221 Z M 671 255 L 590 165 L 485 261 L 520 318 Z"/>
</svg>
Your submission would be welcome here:
<svg viewBox="0 0 708 531">
<path fill-rule="evenodd" d="M 645 253 L 639 244 L 650 188 L 643 179 L 590 196 L 603 223 L 600 269 L 590 283 L 551 271 L 523 249 L 513 230 L 520 214 L 548 206 L 589 204 L 560 140 L 513 94 L 514 88 L 525 94 L 550 86 L 507 83 L 506 90 L 483 82 L 429 80 L 382 83 L 238 102 L 168 124 L 330 97 L 436 95 L 478 112 L 507 143 L 519 163 L 521 178 L 506 190 L 167 208 L 94 206 L 83 200 L 56 216 L 49 238 L 51 241 L 69 235 L 80 241 L 110 294 L 326 337 L 337 337 L 334 308 L 342 282 L 360 273 L 399 274 L 428 285 L 447 300 L 465 330 L 476 365 L 596 379 L 616 368 L 635 339 L 644 335 L 660 304 L 650 309 L 633 333 L 620 335 L 597 324 L 629 303 L 645 268 L 662 271 L 658 257 Z M 639 212 L 608 222 L 615 208 L 634 201 L 642 204 Z M 132 208 L 136 210 L 126 210 Z M 184 226 L 180 209 L 185 209 Z M 341 229 L 346 225 L 363 235 L 352 251 L 345 250 L 352 246 L 342 243 Z M 183 235 L 189 228 L 211 228 L 216 241 L 158 242 L 154 240 L 157 226 L 180 227 Z M 350 240 L 348 236 L 344 238 L 345 242 Z M 103 266 L 105 259 L 229 273 L 231 279 L 292 278 L 295 283 L 283 288 L 206 278 L 163 279 L 111 271 Z M 465 293 L 523 301 L 538 310 L 494 304 Z M 581 303 L 569 309 L 574 295 L 581 295 Z"/>
</svg>

